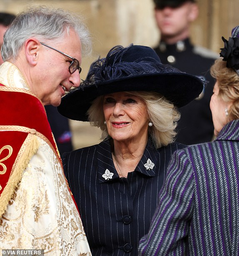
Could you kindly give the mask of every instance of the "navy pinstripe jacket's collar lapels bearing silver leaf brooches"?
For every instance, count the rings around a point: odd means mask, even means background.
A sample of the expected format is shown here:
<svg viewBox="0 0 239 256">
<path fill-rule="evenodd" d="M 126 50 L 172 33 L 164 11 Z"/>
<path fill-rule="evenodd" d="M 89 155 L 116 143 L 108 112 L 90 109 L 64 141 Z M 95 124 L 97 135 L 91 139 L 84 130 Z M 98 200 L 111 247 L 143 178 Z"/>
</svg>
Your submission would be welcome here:
<svg viewBox="0 0 239 256">
<path fill-rule="evenodd" d="M 156 169 L 159 168 L 159 154 L 151 145 L 151 141 L 148 140 L 144 154 L 134 171 L 145 176 L 154 177 Z M 97 166 L 100 183 L 111 182 L 119 178 L 112 159 L 110 139 L 97 145 Z"/>
</svg>

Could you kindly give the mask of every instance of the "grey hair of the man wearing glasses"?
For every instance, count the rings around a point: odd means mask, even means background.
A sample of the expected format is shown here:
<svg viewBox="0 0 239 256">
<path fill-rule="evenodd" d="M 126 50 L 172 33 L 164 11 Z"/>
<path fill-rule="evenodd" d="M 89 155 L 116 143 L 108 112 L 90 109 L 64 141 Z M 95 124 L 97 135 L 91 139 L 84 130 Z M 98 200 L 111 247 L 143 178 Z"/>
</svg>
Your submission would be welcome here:
<svg viewBox="0 0 239 256">
<path fill-rule="evenodd" d="M 82 17 L 60 8 L 31 7 L 19 13 L 6 31 L 2 45 L 2 59 L 15 58 L 24 42 L 34 37 L 38 40 L 60 39 L 73 28 L 78 34 L 82 55 L 91 53 L 90 34 Z"/>
</svg>

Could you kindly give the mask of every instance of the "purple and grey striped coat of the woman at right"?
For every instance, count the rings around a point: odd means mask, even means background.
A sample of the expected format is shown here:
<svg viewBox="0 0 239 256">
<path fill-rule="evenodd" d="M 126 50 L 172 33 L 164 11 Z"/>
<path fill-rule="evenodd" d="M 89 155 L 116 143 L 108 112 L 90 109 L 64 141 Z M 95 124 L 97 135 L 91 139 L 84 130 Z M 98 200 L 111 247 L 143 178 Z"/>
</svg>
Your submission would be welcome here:
<svg viewBox="0 0 239 256">
<path fill-rule="evenodd" d="M 174 153 L 139 255 L 239 255 L 239 120 Z"/>
</svg>

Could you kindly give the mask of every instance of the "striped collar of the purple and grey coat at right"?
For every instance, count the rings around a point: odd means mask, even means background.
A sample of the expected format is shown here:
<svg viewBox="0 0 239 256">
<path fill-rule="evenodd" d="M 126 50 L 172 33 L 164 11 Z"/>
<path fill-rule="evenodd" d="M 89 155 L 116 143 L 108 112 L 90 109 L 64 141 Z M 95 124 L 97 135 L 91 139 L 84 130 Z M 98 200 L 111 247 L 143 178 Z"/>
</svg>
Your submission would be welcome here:
<svg viewBox="0 0 239 256">
<path fill-rule="evenodd" d="M 216 141 L 239 141 L 239 120 L 227 123 L 217 136 Z"/>
</svg>

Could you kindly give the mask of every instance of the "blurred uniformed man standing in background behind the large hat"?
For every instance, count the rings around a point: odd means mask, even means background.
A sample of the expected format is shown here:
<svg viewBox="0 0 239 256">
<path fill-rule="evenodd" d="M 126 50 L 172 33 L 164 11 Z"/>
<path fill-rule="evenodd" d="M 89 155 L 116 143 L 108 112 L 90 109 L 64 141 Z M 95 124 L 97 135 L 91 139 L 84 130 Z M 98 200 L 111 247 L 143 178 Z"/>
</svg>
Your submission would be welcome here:
<svg viewBox="0 0 239 256">
<path fill-rule="evenodd" d="M 199 98 L 180 108 L 176 141 L 186 145 L 211 141 L 213 123 L 209 101 L 214 79 L 209 68 L 218 54 L 194 46 L 190 41 L 190 24 L 198 17 L 198 5 L 194 0 L 154 0 L 154 4 L 161 34 L 159 45 L 154 50 L 162 63 L 209 81 Z"/>
</svg>

